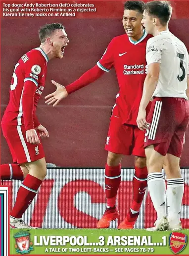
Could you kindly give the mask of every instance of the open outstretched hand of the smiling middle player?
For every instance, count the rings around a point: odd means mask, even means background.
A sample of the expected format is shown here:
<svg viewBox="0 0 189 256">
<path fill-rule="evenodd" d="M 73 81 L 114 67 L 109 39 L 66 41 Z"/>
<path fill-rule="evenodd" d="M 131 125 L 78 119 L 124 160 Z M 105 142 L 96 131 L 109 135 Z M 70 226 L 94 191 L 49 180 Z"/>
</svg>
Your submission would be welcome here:
<svg viewBox="0 0 189 256">
<path fill-rule="evenodd" d="M 56 86 L 56 91 L 48 94 L 45 99 L 48 105 L 53 104 L 53 106 L 56 106 L 62 99 L 68 96 L 68 93 L 63 85 L 56 83 L 54 80 L 51 80 L 51 82 Z"/>
</svg>

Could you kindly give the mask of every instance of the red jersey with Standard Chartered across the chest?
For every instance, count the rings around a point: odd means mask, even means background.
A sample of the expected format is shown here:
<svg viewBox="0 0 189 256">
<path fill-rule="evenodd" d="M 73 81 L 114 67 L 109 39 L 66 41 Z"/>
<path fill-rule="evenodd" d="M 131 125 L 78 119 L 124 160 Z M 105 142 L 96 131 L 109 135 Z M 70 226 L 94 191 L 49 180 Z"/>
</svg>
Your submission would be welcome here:
<svg viewBox="0 0 189 256">
<path fill-rule="evenodd" d="M 146 43 L 149 38 L 151 35 L 147 35 L 145 31 L 137 42 L 132 41 L 127 34 L 115 37 L 96 63 L 105 72 L 109 72 L 112 67 L 115 68 L 120 90 L 116 96 L 112 115 L 121 117 L 123 124 L 137 125 L 146 76 Z"/>
</svg>

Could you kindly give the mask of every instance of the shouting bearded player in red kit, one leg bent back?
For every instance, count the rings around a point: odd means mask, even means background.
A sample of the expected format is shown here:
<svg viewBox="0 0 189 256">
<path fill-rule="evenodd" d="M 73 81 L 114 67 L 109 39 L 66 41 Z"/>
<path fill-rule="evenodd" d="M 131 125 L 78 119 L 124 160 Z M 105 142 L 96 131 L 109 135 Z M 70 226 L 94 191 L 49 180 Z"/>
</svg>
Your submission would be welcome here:
<svg viewBox="0 0 189 256">
<path fill-rule="evenodd" d="M 64 26 L 46 24 L 39 30 L 40 47 L 24 54 L 15 65 L 10 85 L 10 99 L 1 120 L 3 135 L 13 164 L 0 166 L 1 179 L 24 180 L 10 213 L 11 228 L 32 228 L 22 215 L 33 201 L 46 176 L 46 160 L 41 137 L 47 129 L 35 114 L 45 87 L 47 61 L 62 58 L 68 44 Z"/>
</svg>

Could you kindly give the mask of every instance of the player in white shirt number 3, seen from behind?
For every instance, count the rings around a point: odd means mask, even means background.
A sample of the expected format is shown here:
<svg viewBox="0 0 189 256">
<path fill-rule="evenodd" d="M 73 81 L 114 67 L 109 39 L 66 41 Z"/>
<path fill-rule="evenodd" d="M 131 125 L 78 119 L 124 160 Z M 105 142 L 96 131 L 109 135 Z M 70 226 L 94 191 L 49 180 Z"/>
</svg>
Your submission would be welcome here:
<svg viewBox="0 0 189 256">
<path fill-rule="evenodd" d="M 155 227 L 147 230 L 182 229 L 180 211 L 184 193 L 179 161 L 189 124 L 189 55 L 184 43 L 168 30 L 172 7 L 167 1 L 145 4 L 142 24 L 150 38 L 146 45 L 147 76 L 137 118 L 146 130 L 144 148 L 147 161 L 147 185 L 157 212 Z M 146 118 L 145 107 L 153 96 Z M 166 165 L 165 180 L 161 173 Z"/>
</svg>

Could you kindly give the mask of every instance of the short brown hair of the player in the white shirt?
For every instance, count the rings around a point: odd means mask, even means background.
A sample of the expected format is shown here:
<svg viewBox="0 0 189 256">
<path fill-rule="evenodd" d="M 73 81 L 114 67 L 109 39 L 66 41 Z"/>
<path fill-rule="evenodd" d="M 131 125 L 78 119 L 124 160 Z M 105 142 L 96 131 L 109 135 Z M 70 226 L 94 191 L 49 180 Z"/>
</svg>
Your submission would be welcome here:
<svg viewBox="0 0 189 256">
<path fill-rule="evenodd" d="M 161 25 L 165 26 L 171 18 L 172 7 L 169 1 L 151 1 L 145 4 L 144 11 L 159 18 Z"/>
</svg>

